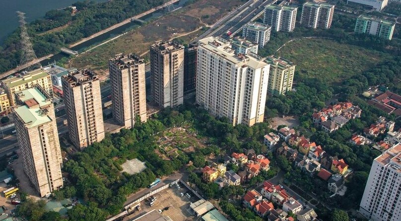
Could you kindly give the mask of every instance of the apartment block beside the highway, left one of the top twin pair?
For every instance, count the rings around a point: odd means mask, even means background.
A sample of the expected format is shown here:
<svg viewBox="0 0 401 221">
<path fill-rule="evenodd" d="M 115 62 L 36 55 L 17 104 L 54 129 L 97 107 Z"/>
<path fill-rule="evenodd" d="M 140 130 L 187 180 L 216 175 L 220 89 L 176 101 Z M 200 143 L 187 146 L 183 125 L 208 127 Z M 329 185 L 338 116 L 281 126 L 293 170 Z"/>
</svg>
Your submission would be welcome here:
<svg viewBox="0 0 401 221">
<path fill-rule="evenodd" d="M 263 23 L 271 26 L 271 28 L 276 32 L 292 32 L 295 28 L 296 17 L 296 7 L 270 4 L 265 8 Z"/>
</svg>

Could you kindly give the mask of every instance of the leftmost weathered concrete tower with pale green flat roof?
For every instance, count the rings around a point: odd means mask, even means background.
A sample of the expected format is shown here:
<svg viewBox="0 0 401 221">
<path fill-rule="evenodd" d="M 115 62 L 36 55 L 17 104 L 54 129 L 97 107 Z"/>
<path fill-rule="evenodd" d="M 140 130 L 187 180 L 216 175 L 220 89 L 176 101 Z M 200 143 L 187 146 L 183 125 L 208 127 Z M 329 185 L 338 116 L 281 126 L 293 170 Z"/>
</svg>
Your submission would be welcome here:
<svg viewBox="0 0 401 221">
<path fill-rule="evenodd" d="M 62 155 L 51 96 L 43 88 L 15 94 L 12 108 L 24 172 L 40 196 L 63 187 Z"/>
</svg>

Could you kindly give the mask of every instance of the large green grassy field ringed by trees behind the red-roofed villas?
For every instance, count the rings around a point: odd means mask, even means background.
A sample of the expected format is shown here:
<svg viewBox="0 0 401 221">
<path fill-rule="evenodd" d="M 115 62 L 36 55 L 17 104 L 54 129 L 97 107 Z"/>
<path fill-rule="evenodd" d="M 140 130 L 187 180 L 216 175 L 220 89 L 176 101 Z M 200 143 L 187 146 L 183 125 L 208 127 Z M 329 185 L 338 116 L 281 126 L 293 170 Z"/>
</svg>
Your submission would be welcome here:
<svg viewBox="0 0 401 221">
<path fill-rule="evenodd" d="M 390 54 L 328 39 L 303 39 L 286 44 L 276 55 L 297 64 L 299 79 L 320 78 L 329 84 L 339 84 L 354 75 L 386 60 Z"/>
</svg>

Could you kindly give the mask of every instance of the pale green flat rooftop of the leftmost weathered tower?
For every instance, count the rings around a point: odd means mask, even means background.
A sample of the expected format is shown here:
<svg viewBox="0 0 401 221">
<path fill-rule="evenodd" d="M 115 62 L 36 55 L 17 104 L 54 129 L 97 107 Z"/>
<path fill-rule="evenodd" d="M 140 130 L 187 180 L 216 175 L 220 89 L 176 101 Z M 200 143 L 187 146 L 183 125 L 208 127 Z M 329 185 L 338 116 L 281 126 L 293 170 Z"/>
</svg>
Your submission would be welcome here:
<svg viewBox="0 0 401 221">
<path fill-rule="evenodd" d="M 14 111 L 27 125 L 26 127 L 36 127 L 52 120 L 47 115 L 47 110 L 43 109 L 44 106 L 51 105 L 52 102 L 38 88 L 22 90 L 16 96 L 24 104 L 15 107 Z"/>
</svg>

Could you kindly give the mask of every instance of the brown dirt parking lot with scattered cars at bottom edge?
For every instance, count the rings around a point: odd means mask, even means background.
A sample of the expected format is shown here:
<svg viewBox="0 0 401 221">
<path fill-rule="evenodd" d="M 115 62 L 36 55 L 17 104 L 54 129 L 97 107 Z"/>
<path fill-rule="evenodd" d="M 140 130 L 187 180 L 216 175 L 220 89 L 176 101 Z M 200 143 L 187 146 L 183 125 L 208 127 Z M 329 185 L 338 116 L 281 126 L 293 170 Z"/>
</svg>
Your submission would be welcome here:
<svg viewBox="0 0 401 221">
<path fill-rule="evenodd" d="M 191 191 L 180 184 L 181 189 L 178 190 L 176 185 L 167 188 L 161 192 L 154 194 L 156 200 L 153 201 L 153 205 L 150 206 L 151 197 L 140 203 L 141 211 L 136 212 L 124 219 L 124 221 L 131 220 L 137 217 L 139 214 L 149 212 L 151 210 L 162 211 L 162 215 L 170 217 L 173 221 L 190 221 L 194 220 L 194 216 L 190 211 L 190 204 L 199 200 L 197 196 L 191 193 Z M 183 193 L 184 196 L 181 196 Z M 186 196 L 186 193 L 190 193 L 191 198 Z"/>
</svg>

